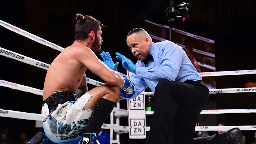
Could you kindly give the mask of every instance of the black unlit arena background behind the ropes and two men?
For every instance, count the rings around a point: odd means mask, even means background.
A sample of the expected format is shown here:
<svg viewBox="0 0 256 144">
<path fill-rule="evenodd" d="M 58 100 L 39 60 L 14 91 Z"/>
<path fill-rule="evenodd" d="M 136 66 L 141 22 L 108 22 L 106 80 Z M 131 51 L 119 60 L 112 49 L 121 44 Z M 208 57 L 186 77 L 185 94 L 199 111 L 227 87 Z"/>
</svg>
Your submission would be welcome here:
<svg viewBox="0 0 256 144">
<path fill-rule="evenodd" d="M 126 46 L 127 33 L 136 27 L 144 27 L 144 20 L 168 25 L 189 33 L 215 40 L 216 71 L 256 69 L 256 1 L 255 0 L 175 0 L 190 3 L 190 20 L 170 22 L 164 19 L 168 0 L 20 0 L 1 1 L 0 20 L 28 31 L 61 47 L 74 41 L 75 14 L 89 14 L 107 27 L 103 29 L 102 51 L 125 54 L 134 63 Z M 0 47 L 51 64 L 60 53 L 17 33 L 0 27 Z M 99 54 L 97 56 L 100 58 Z M 113 58 L 114 62 L 118 60 Z M 0 56 L 0 79 L 43 89 L 46 70 L 14 59 Z M 126 73 L 119 64 L 118 71 Z M 88 78 L 102 81 L 89 71 Z M 103 82 L 103 81 L 102 81 Z M 217 88 L 244 87 L 246 82 L 256 82 L 255 75 L 218 76 Z M 88 85 L 89 89 L 94 86 Z M 28 92 L 0 87 L 0 108 L 29 113 L 40 113 L 42 97 Z M 255 93 L 231 93 L 211 95 L 205 109 L 255 108 Z M 124 107 L 125 108 L 125 107 Z M 200 116 L 201 123 L 214 126 L 256 125 L 255 113 L 218 114 Z M 125 120 L 124 120 L 125 121 Z M 122 124 L 126 124 L 123 122 Z M 13 139 L 25 132 L 31 138 L 40 129 L 35 121 L 0 117 L 0 127 L 7 127 Z M 254 131 L 242 131 L 246 143 L 253 140 Z M 126 139 L 123 134 L 121 140 Z M 138 140 L 139 141 L 139 140 Z M 128 141 L 136 143 L 135 141 Z"/>
</svg>

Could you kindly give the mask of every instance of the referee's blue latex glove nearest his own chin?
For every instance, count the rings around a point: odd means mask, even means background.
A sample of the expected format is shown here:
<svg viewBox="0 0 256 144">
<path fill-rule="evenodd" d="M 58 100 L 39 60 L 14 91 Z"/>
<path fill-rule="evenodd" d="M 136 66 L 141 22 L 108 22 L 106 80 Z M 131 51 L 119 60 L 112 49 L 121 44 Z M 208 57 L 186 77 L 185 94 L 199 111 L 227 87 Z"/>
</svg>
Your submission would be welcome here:
<svg viewBox="0 0 256 144">
<path fill-rule="evenodd" d="M 116 58 L 122 61 L 122 65 L 126 70 L 132 73 L 136 73 L 137 66 L 133 64 L 131 60 L 121 55 L 120 53 L 116 53 Z"/>
</svg>

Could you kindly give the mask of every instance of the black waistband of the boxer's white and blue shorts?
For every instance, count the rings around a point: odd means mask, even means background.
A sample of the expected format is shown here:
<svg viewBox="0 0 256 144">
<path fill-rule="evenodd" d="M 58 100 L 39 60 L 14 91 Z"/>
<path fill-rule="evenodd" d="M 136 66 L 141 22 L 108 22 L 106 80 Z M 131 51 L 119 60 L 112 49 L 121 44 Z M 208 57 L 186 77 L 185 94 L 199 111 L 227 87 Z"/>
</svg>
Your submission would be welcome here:
<svg viewBox="0 0 256 144">
<path fill-rule="evenodd" d="M 77 96 L 72 91 L 60 91 L 55 92 L 43 101 L 42 107 L 47 103 L 49 111 L 52 112 L 56 110 L 59 104 L 64 104 L 67 101 L 76 101 Z"/>
</svg>

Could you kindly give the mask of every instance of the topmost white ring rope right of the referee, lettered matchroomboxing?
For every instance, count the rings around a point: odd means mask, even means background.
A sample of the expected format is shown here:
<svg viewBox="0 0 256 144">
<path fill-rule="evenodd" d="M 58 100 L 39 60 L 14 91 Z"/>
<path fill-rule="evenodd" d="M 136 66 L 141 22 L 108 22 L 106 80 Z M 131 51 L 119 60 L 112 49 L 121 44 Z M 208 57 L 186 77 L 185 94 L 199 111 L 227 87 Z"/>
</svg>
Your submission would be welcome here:
<svg viewBox="0 0 256 144">
<path fill-rule="evenodd" d="M 219 71 L 219 72 L 201 72 L 201 77 L 206 76 L 227 76 L 227 75 L 245 75 L 245 74 L 256 74 L 254 70 L 237 70 L 237 71 Z"/>
</svg>

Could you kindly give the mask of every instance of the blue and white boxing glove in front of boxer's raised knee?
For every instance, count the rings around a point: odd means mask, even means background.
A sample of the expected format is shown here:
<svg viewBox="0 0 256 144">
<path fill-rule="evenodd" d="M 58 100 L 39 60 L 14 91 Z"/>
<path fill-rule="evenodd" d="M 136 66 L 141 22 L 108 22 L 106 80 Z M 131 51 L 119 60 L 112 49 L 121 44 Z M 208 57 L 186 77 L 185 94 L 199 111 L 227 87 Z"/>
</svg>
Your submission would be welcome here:
<svg viewBox="0 0 256 144">
<path fill-rule="evenodd" d="M 124 97 L 124 98 L 133 98 L 136 87 L 130 78 L 126 76 L 123 76 L 123 78 L 124 78 L 124 85 L 120 87 L 121 89 L 120 95 L 121 97 Z"/>
</svg>

